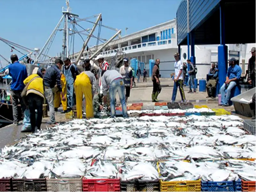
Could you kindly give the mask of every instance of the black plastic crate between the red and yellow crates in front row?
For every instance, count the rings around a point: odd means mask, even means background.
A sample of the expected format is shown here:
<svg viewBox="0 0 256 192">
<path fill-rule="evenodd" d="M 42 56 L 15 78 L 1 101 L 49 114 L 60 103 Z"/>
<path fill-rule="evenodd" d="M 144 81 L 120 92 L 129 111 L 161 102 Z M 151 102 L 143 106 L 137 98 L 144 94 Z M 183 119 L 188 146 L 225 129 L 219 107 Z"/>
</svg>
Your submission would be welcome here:
<svg viewBox="0 0 256 192">
<path fill-rule="evenodd" d="M 121 191 L 159 191 L 159 180 L 121 181 Z"/>
</svg>

